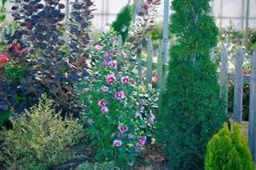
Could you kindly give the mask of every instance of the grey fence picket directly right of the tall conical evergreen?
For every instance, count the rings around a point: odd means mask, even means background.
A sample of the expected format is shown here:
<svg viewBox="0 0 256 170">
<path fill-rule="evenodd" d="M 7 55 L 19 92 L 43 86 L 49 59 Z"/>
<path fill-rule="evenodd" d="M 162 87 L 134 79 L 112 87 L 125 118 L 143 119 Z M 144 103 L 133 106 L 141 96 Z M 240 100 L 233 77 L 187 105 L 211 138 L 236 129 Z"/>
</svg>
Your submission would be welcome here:
<svg viewBox="0 0 256 170">
<path fill-rule="evenodd" d="M 228 115 L 228 112 L 227 112 L 228 70 L 227 69 L 228 69 L 228 52 L 226 49 L 226 45 L 223 45 L 222 55 L 221 55 L 220 97 L 224 101 L 226 115 Z"/>
</svg>

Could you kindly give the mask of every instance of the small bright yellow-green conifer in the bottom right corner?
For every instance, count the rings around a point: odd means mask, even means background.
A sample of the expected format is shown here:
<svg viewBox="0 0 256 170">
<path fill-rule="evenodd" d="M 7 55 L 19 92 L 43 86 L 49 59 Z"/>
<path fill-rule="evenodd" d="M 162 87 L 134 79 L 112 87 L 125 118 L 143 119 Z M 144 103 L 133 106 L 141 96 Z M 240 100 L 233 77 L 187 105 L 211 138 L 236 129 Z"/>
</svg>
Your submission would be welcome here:
<svg viewBox="0 0 256 170">
<path fill-rule="evenodd" d="M 228 125 L 215 134 L 206 148 L 206 170 L 253 170 L 254 163 L 247 146 L 246 137 L 242 136 L 242 128 L 238 123 Z"/>
</svg>

